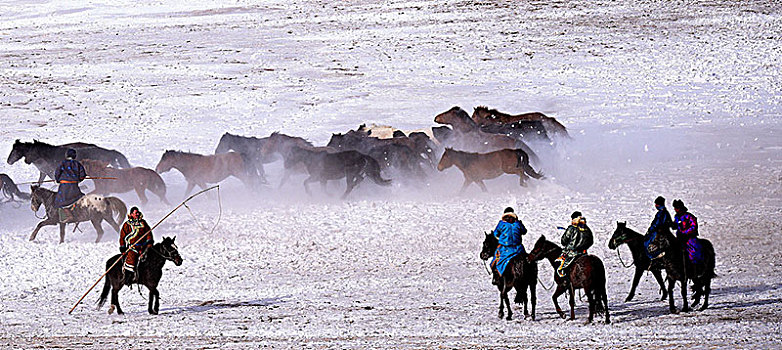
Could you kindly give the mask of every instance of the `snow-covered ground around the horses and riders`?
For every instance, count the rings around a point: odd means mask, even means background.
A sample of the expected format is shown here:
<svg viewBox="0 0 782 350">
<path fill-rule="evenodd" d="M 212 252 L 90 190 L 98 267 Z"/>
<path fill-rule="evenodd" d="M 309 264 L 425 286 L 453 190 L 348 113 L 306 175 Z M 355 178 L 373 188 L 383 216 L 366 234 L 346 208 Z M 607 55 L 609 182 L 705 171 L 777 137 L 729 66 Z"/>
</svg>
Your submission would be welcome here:
<svg viewBox="0 0 782 350">
<path fill-rule="evenodd" d="M 454 168 L 427 184 L 366 182 L 347 201 L 318 186 L 307 197 L 302 177 L 257 193 L 226 181 L 222 212 L 217 196 L 199 197 L 198 222 L 183 208 L 155 231 L 176 235 L 185 258 L 165 268 L 158 316 L 135 289 L 120 295 L 126 315 L 96 311 L 99 288 L 68 315 L 117 235 L 94 244 L 82 225 L 58 245 L 48 227 L 28 242 L 38 219 L 0 205 L 0 346 L 777 348 L 780 11 L 727 0 L 4 2 L 3 157 L 15 139 L 87 141 L 153 168 L 166 149 L 213 152 L 226 131 L 322 145 L 364 122 L 415 129 L 477 105 L 544 112 L 574 139 L 543 166 L 548 180 L 523 189 L 505 176 L 488 194 L 458 196 Z M 267 169 L 272 183 L 279 170 Z M 23 162 L 0 172 L 37 176 Z M 163 178 L 182 198 L 182 176 Z M 658 195 L 683 199 L 714 243 L 706 311 L 669 314 L 649 276 L 623 302 L 632 271 L 607 241 L 616 221 L 645 230 Z M 528 247 L 584 213 L 612 324 L 584 325 L 582 302 L 576 322 L 560 320 L 542 288 L 537 321 L 497 319 L 478 253 L 508 205 Z M 142 209 L 155 223 L 171 208 L 151 198 Z"/>
</svg>

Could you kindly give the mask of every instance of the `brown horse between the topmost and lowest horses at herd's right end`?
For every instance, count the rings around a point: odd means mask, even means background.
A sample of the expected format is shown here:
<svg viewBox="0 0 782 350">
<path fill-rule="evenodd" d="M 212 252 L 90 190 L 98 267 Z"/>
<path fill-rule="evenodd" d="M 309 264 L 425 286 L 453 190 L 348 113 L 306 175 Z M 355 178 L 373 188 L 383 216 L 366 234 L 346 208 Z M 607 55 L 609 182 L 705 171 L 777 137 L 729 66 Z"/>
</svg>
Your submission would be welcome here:
<svg viewBox="0 0 782 350">
<path fill-rule="evenodd" d="M 482 131 L 478 124 L 470 118 L 470 115 L 459 107 L 453 107 L 438 114 L 434 121 L 453 127 L 447 138 L 443 140 L 437 138 L 445 147 L 480 153 L 520 148 L 529 155 L 533 162 L 539 163 L 540 161 L 538 155 L 526 143 L 507 135 Z M 435 133 L 436 135 L 437 133 Z"/>
</svg>

